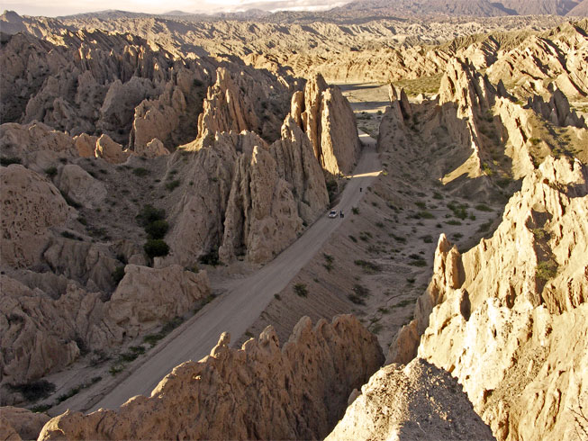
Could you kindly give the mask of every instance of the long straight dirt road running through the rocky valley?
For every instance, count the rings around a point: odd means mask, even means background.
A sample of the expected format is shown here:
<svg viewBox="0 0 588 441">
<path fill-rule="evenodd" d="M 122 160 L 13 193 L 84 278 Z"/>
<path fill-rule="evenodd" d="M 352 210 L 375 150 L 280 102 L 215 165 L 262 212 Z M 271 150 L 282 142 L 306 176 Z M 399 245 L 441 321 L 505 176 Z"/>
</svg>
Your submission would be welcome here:
<svg viewBox="0 0 588 441">
<path fill-rule="evenodd" d="M 366 147 L 354 175 L 349 176 L 350 179 L 334 210 L 349 213 L 366 193 L 365 190 L 360 192 L 360 187 L 365 189 L 380 173 L 375 139 L 361 132 L 360 139 Z M 339 217 L 329 219 L 325 214 L 276 259 L 257 273 L 236 281 L 227 293 L 217 297 L 192 319 L 167 336 L 158 347 L 149 351 L 140 361 L 138 360 L 139 363 L 129 366 L 126 377 L 111 379 L 108 384 L 104 384 L 103 392 L 99 396 L 95 396 L 86 404 L 80 402 L 78 409 L 86 411 L 99 408 L 115 409 L 135 395 L 149 395 L 159 381 L 176 365 L 187 360 L 200 360 L 209 355 L 222 332 L 230 332 L 231 341 L 238 340 L 258 319 L 274 294 L 284 289 L 294 275 L 319 252 L 323 243 L 338 228 L 340 222 Z M 72 404 L 69 403 L 70 408 Z"/>
</svg>

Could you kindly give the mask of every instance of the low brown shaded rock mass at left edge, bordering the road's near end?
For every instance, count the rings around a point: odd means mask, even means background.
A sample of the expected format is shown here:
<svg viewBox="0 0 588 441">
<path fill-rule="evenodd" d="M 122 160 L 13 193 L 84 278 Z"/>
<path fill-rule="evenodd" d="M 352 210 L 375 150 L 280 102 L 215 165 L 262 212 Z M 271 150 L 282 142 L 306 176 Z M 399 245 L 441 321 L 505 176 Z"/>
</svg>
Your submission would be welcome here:
<svg viewBox="0 0 588 441">
<path fill-rule="evenodd" d="M 205 272 L 196 275 L 180 266 L 128 265 L 106 302 L 102 293 L 50 273 L 23 279 L 30 286 L 6 275 L 0 279 L 0 383 L 26 383 L 69 365 L 81 349 L 120 344 L 185 314 L 209 293 Z"/>
</svg>

